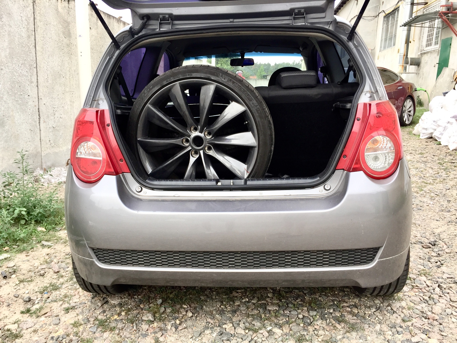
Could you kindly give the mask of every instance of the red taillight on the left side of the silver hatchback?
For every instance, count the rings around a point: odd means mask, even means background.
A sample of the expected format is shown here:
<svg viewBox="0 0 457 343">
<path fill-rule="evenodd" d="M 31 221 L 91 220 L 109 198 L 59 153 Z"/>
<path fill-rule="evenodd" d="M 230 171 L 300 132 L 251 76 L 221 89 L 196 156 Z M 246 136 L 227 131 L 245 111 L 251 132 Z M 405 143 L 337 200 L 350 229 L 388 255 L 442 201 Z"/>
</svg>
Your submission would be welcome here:
<svg viewBox="0 0 457 343">
<path fill-rule="evenodd" d="M 74 121 L 71 165 L 84 182 L 96 182 L 103 175 L 130 172 L 117 145 L 108 110 L 83 108 Z"/>
</svg>

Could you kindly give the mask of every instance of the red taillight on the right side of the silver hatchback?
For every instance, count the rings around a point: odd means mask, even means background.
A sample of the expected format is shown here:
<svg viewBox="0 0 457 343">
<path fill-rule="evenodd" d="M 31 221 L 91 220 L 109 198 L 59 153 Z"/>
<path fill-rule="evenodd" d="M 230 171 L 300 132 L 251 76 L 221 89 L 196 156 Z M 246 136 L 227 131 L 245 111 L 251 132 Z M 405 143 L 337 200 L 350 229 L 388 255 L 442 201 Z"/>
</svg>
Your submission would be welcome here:
<svg viewBox="0 0 457 343">
<path fill-rule="evenodd" d="M 383 179 L 393 174 L 402 157 L 400 123 L 392 104 L 358 104 L 351 135 L 336 169 L 364 171 L 369 177 Z"/>
</svg>

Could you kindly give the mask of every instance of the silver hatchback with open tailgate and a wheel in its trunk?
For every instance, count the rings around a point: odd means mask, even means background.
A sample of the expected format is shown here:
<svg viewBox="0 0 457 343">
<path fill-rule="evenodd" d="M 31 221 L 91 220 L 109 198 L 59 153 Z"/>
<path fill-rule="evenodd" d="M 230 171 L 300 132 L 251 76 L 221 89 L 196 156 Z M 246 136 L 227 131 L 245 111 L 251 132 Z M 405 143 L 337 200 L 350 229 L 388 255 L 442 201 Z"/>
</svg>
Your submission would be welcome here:
<svg viewBox="0 0 457 343">
<path fill-rule="evenodd" d="M 399 119 L 333 0 L 105 2 L 133 25 L 74 124 L 65 218 L 82 289 L 403 288 Z"/>
</svg>

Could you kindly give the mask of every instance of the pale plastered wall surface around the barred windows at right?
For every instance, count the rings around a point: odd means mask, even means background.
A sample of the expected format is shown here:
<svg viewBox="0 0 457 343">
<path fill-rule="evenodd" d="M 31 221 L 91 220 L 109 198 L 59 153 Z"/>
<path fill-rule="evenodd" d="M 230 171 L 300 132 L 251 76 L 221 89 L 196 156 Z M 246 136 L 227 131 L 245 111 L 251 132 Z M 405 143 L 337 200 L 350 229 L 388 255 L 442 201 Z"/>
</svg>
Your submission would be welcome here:
<svg viewBox="0 0 457 343">
<path fill-rule="evenodd" d="M 427 6 L 434 5 L 438 1 L 430 1 Z M 351 20 L 351 23 L 354 23 L 355 16 L 360 11 L 360 6 L 362 1 L 357 3 L 356 0 L 349 0 L 337 14 L 345 18 L 346 20 Z M 377 66 L 385 67 L 395 72 L 400 72 L 399 69 L 399 50 L 400 50 L 400 40 L 403 27 L 400 25 L 403 23 L 404 19 L 404 2 L 399 4 L 399 21 L 397 28 L 396 44 L 392 48 L 385 50 L 380 50 L 381 45 L 381 34 L 383 30 L 383 17 L 384 12 L 389 13 L 395 8 L 397 0 L 384 0 L 379 4 L 379 1 L 375 4 L 373 1 L 370 1 L 369 6 L 372 7 L 372 11 L 368 12 L 370 7 L 367 7 L 362 20 L 357 27 L 357 32 L 364 39 L 367 47 L 371 49 L 372 57 Z M 375 8 L 378 7 L 379 10 Z M 422 6 L 414 6 L 414 16 L 423 13 L 423 9 L 417 11 Z M 384 11 L 384 12 L 382 12 Z M 381 12 L 381 13 L 380 13 Z M 380 13 L 379 16 L 376 16 L 377 13 Z M 452 21 L 451 21 L 452 22 Z M 454 27 L 457 27 L 457 23 L 454 23 Z M 409 66 L 406 74 L 400 74 L 405 80 L 413 82 L 417 87 L 423 87 L 427 91 L 431 91 L 436 81 L 436 70 L 438 67 L 438 58 L 440 54 L 439 46 L 436 50 L 420 53 L 420 40 L 421 40 L 421 27 L 412 27 L 410 44 L 409 44 L 409 57 L 420 57 L 421 63 L 420 66 Z M 375 37 L 375 38 L 373 38 Z M 441 38 L 452 37 L 451 45 L 451 57 L 449 59 L 449 68 L 457 69 L 457 37 L 453 35 L 452 31 L 446 25 L 443 25 L 441 29 Z M 420 95 L 421 99 L 424 101 L 425 106 L 428 106 L 427 95 L 424 92 L 417 92 Z"/>
</svg>

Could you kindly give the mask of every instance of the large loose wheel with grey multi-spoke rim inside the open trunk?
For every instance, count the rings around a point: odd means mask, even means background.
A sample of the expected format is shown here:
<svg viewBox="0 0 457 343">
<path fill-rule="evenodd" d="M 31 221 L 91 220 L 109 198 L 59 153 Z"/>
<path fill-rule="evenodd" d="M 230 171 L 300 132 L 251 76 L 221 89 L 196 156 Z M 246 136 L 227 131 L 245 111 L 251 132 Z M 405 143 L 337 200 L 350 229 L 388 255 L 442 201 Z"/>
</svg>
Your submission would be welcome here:
<svg viewBox="0 0 457 343">
<path fill-rule="evenodd" d="M 154 179 L 264 177 L 274 145 L 260 94 L 211 65 L 175 68 L 151 81 L 132 107 L 127 136 Z"/>
</svg>

